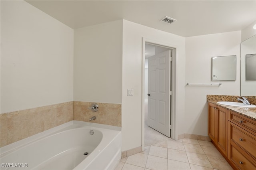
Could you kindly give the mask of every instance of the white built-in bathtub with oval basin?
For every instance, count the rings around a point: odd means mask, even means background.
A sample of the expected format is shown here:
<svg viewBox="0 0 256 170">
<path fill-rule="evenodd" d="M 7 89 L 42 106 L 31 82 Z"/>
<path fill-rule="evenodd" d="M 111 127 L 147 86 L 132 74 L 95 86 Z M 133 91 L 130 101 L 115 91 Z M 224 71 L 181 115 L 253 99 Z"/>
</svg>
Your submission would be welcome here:
<svg viewBox="0 0 256 170">
<path fill-rule="evenodd" d="M 114 169 L 121 159 L 121 128 L 70 121 L 4 146 L 0 153 L 1 170 Z"/>
</svg>

